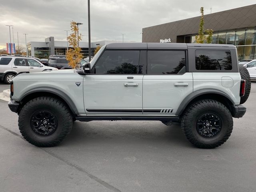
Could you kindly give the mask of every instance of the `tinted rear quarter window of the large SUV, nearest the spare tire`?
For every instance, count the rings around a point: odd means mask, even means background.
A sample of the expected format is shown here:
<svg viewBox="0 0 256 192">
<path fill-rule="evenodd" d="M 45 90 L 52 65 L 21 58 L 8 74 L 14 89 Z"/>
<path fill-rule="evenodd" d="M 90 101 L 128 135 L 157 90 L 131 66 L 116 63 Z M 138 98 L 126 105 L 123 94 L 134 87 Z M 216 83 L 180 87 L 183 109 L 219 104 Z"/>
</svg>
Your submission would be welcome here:
<svg viewBox="0 0 256 192">
<path fill-rule="evenodd" d="M 196 70 L 232 70 L 229 50 L 196 50 Z"/>
</svg>

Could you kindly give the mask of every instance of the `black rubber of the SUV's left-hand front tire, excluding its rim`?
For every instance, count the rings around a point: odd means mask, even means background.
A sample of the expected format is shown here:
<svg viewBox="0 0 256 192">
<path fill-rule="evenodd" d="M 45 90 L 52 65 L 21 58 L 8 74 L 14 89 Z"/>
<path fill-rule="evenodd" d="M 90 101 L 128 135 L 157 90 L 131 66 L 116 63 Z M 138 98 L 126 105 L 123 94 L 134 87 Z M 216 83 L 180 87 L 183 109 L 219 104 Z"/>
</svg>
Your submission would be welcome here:
<svg viewBox="0 0 256 192">
<path fill-rule="evenodd" d="M 41 110 L 54 114 L 58 122 L 56 130 L 47 136 L 38 135 L 31 126 L 33 114 Z M 38 147 L 52 147 L 60 144 L 71 131 L 72 123 L 73 117 L 68 107 L 60 100 L 46 96 L 27 102 L 20 110 L 18 118 L 18 126 L 24 139 Z"/>
</svg>

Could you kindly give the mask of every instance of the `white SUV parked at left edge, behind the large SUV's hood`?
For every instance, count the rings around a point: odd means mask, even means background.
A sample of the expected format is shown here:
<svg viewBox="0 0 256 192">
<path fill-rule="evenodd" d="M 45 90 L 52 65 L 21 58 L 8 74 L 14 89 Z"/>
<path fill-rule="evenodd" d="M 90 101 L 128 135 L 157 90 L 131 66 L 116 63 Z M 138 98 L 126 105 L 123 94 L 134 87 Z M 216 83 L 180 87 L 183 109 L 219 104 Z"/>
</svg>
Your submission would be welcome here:
<svg viewBox="0 0 256 192">
<path fill-rule="evenodd" d="M 53 67 L 44 66 L 34 58 L 0 56 L 0 80 L 7 84 L 19 73 L 34 73 L 47 70 L 57 70 Z"/>
</svg>

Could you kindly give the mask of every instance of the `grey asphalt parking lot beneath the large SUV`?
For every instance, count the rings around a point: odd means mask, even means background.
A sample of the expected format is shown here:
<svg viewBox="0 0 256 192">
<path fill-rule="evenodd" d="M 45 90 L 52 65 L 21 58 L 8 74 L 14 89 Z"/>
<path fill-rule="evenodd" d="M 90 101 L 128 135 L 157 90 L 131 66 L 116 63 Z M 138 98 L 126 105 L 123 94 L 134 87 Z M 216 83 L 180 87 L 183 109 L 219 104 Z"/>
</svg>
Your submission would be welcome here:
<svg viewBox="0 0 256 192">
<path fill-rule="evenodd" d="M 74 122 L 57 147 L 23 140 L 0 100 L 0 191 L 255 192 L 256 83 L 229 140 L 198 149 L 179 126 L 146 121 Z"/>
</svg>

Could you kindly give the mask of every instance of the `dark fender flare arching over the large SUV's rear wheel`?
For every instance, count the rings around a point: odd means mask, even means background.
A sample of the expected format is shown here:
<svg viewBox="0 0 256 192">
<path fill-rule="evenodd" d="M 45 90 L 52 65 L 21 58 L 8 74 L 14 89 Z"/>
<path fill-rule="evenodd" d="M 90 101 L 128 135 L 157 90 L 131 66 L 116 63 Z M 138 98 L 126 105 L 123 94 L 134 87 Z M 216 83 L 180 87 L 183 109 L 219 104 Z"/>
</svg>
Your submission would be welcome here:
<svg viewBox="0 0 256 192">
<path fill-rule="evenodd" d="M 196 97 L 198 96 L 202 96 L 205 94 L 218 94 L 221 96 L 224 96 L 226 99 L 228 99 L 233 105 L 234 102 L 233 100 L 230 98 L 230 96 L 228 96 L 228 94 L 224 93 L 223 91 L 217 90 L 217 89 L 200 89 L 197 90 L 195 92 L 192 92 L 191 94 L 189 94 L 188 96 L 186 96 L 186 98 L 182 101 L 182 103 L 180 104 L 180 106 L 178 107 L 178 110 L 176 112 L 176 115 L 181 115 L 182 112 L 185 110 L 185 108 L 188 106 L 188 104 Z"/>
</svg>

